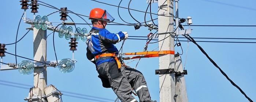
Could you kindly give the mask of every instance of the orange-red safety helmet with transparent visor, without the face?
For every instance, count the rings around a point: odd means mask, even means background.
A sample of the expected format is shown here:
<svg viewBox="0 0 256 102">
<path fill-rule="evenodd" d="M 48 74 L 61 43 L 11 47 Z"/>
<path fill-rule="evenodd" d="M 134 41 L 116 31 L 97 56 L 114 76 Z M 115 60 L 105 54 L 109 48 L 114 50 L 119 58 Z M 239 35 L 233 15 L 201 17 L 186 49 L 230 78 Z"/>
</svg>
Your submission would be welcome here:
<svg viewBox="0 0 256 102">
<path fill-rule="evenodd" d="M 89 19 L 93 19 L 93 18 L 101 19 L 101 20 L 107 21 L 108 23 L 113 22 L 115 20 L 114 17 L 110 15 L 110 13 L 108 13 L 106 10 L 101 8 L 93 8 L 90 11 Z"/>
</svg>

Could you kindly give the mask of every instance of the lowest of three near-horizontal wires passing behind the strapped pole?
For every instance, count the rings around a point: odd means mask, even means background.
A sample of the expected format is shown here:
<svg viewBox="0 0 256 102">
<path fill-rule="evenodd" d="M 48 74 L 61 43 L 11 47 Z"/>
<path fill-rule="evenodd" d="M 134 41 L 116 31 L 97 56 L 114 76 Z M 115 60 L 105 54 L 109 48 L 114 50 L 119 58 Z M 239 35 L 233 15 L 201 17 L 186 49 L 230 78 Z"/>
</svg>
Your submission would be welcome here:
<svg viewBox="0 0 256 102">
<path fill-rule="evenodd" d="M 148 40 L 148 39 L 137 39 L 137 38 L 128 38 L 133 40 Z M 157 40 L 157 39 L 152 39 Z M 175 40 L 176 41 L 176 40 Z M 179 40 L 180 42 L 188 42 L 188 40 Z M 189 41 L 191 42 L 191 41 Z M 196 41 L 196 42 L 208 42 L 208 43 L 256 43 L 256 42 L 226 42 L 226 41 Z"/>
</svg>

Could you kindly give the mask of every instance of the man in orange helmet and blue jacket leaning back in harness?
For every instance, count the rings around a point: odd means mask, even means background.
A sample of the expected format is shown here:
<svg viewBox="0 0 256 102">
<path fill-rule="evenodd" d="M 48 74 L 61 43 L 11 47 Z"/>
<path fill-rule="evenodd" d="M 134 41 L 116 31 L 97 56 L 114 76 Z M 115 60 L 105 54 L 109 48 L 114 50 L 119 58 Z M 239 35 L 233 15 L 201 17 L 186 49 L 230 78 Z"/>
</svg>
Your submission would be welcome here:
<svg viewBox="0 0 256 102">
<path fill-rule="evenodd" d="M 118 49 L 114 44 L 128 38 L 127 32 L 111 33 L 105 29 L 107 22 L 114 21 L 106 10 L 93 8 L 90 11 L 92 30 L 87 37 L 87 58 L 96 64 L 96 70 L 103 87 L 112 88 L 122 102 L 138 102 L 131 94 L 138 95 L 140 102 L 152 101 L 144 76 L 140 71 L 124 67 L 117 58 Z"/>
</svg>

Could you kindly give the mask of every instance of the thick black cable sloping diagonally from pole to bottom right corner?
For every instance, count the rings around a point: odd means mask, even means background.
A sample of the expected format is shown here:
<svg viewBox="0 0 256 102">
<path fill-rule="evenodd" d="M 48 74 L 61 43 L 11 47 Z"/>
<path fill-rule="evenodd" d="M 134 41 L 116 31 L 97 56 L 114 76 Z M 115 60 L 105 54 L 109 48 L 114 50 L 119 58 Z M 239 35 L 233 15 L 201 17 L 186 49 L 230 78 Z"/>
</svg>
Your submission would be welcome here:
<svg viewBox="0 0 256 102">
<path fill-rule="evenodd" d="M 183 36 L 185 36 L 185 35 L 183 35 Z M 189 36 L 189 35 L 188 35 Z M 233 86 L 235 86 L 250 102 L 253 102 L 252 101 L 252 99 L 250 99 L 245 93 L 244 93 L 244 91 L 239 87 L 239 86 L 237 86 L 230 78 L 229 78 L 229 76 L 227 76 L 227 74 L 224 72 L 224 71 L 222 71 L 222 69 L 214 62 L 214 60 L 212 60 L 210 57 L 209 57 L 209 55 L 204 51 L 204 49 L 201 47 L 201 46 L 199 46 L 199 44 L 197 44 L 196 43 L 196 41 L 191 37 L 191 36 L 189 36 L 189 38 L 187 37 L 187 36 L 185 36 L 187 39 L 189 39 L 191 42 L 193 42 L 194 44 L 196 44 L 196 46 L 201 50 L 201 52 L 203 52 L 203 54 L 210 60 L 210 62 L 212 63 L 212 64 L 214 64 L 214 66 L 216 67 L 216 68 L 218 68 L 219 69 L 219 71 L 227 78 L 227 80 L 229 80 L 229 82 L 233 85 Z"/>
</svg>

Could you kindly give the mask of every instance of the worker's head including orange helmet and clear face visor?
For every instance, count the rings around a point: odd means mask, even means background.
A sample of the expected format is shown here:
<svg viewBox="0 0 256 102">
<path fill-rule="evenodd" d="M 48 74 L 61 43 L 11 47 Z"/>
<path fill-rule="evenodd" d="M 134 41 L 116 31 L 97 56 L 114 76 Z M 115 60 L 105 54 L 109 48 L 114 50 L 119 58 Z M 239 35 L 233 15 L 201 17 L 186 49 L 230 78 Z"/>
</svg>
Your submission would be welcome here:
<svg viewBox="0 0 256 102">
<path fill-rule="evenodd" d="M 90 11 L 89 19 L 92 20 L 92 25 L 97 28 L 105 28 L 107 22 L 111 23 L 115 20 L 106 10 L 101 8 L 93 8 Z"/>
</svg>

